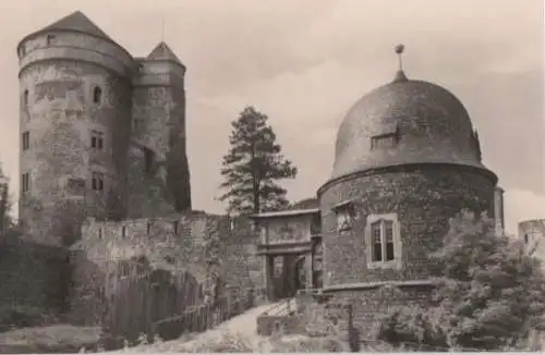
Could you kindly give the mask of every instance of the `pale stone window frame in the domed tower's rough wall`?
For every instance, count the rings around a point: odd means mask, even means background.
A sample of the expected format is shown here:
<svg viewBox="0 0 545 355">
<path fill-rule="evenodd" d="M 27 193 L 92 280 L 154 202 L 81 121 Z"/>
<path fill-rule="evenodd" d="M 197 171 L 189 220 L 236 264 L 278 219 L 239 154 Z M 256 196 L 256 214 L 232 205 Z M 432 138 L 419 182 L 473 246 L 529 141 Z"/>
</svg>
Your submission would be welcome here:
<svg viewBox="0 0 545 355">
<path fill-rule="evenodd" d="M 392 223 L 392 242 L 393 242 L 393 259 L 386 260 L 386 233 L 384 229 L 380 229 L 380 246 L 382 246 L 382 260 L 374 261 L 374 235 L 372 227 L 376 222 L 388 221 Z M 384 225 L 384 224 L 383 224 Z M 385 215 L 370 215 L 367 216 L 367 221 L 365 224 L 365 245 L 366 245 L 366 256 L 367 256 L 367 267 L 370 269 L 374 268 L 387 268 L 387 269 L 401 269 L 402 265 L 402 243 L 400 234 L 400 225 L 398 220 L 398 213 L 385 213 Z"/>
</svg>

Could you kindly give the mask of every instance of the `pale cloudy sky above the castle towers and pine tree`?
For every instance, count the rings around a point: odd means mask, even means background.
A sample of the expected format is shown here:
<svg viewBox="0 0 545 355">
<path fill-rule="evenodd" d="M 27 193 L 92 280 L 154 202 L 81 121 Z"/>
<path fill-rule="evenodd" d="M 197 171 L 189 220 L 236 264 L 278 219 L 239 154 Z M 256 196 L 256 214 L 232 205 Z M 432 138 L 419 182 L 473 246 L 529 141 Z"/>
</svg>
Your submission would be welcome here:
<svg viewBox="0 0 545 355">
<path fill-rule="evenodd" d="M 269 117 L 299 168 L 291 200 L 331 173 L 349 108 L 392 79 L 452 91 L 477 128 L 483 161 L 506 191 L 506 229 L 545 218 L 544 26 L 538 0 L 17 0 L 0 13 L 0 161 L 19 191 L 16 44 L 81 10 L 135 57 L 161 40 L 187 68 L 187 155 L 195 209 L 222 212 L 221 157 L 246 106 Z"/>
</svg>

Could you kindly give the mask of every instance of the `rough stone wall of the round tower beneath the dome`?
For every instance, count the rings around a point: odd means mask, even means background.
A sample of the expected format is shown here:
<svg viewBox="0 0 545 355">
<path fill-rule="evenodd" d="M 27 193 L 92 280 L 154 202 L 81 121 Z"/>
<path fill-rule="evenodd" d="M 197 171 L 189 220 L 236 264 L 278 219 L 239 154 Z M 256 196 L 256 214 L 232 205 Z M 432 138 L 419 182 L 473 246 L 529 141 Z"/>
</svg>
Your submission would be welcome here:
<svg viewBox="0 0 545 355">
<path fill-rule="evenodd" d="M 322 194 L 324 286 L 358 282 L 427 279 L 428 255 L 448 231 L 448 220 L 463 208 L 493 209 L 494 184 L 479 171 L 449 166 L 407 167 L 361 175 L 326 186 Z M 353 200 L 352 229 L 338 235 L 332 206 Z M 401 268 L 367 268 L 364 242 L 370 213 L 398 213 Z"/>
</svg>

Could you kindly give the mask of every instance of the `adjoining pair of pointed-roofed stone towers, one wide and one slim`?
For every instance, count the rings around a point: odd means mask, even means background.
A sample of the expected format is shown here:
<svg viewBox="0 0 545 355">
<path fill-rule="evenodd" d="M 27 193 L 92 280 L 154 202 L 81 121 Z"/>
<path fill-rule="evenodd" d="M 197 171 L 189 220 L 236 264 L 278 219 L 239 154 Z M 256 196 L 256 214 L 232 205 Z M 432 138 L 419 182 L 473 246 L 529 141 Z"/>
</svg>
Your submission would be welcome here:
<svg viewBox="0 0 545 355">
<path fill-rule="evenodd" d="M 135 59 L 76 11 L 23 38 L 17 57 L 25 235 L 70 245 L 86 217 L 191 208 L 185 68 L 165 42 Z"/>
</svg>

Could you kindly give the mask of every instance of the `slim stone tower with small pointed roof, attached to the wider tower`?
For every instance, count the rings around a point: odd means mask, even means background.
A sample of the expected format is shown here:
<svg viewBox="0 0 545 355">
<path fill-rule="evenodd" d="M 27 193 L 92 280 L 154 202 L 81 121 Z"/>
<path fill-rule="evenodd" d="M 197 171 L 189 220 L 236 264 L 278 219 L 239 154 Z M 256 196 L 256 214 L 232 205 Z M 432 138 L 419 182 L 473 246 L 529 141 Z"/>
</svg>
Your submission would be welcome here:
<svg viewBox="0 0 545 355">
<path fill-rule="evenodd" d="M 190 169 L 185 148 L 185 66 L 161 41 L 140 58 L 133 79 L 130 217 L 191 209 Z M 146 167 L 135 159 L 144 157 Z M 133 171 L 134 170 L 134 171 Z M 142 175 L 141 172 L 144 171 Z M 167 188 L 162 187 L 167 186 Z M 162 207 L 160 207 L 162 206 Z"/>
</svg>

